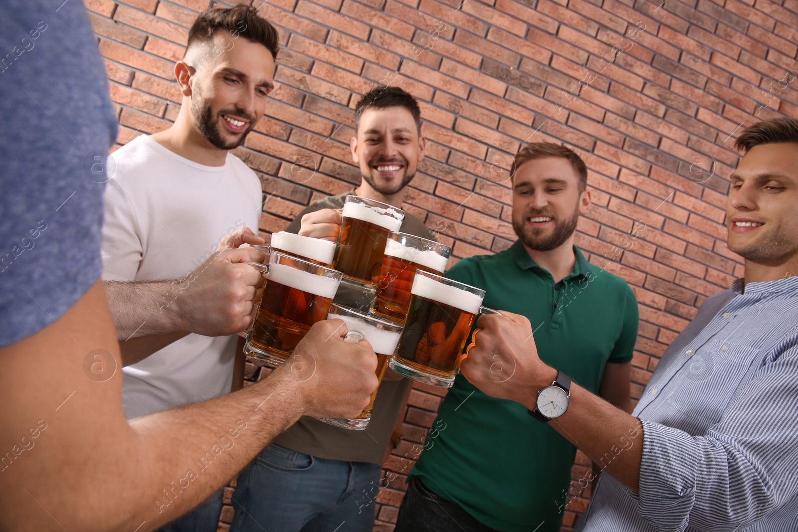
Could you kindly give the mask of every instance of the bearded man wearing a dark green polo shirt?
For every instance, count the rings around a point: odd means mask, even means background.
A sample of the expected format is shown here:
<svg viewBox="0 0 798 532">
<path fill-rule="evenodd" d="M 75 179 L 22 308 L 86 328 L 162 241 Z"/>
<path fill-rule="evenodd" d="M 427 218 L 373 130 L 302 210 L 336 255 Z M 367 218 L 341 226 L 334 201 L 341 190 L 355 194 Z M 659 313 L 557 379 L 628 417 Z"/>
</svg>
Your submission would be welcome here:
<svg viewBox="0 0 798 532">
<path fill-rule="evenodd" d="M 544 362 L 630 411 L 637 301 L 574 245 L 591 204 L 587 167 L 565 146 L 533 143 L 519 150 L 512 177 L 519 240 L 464 258 L 446 277 L 484 289 L 488 307 L 527 317 Z M 497 379 L 512 375 L 496 369 Z M 438 412 L 445 430 L 410 472 L 395 532 L 557 532 L 576 447 L 530 414 L 457 376 Z"/>
</svg>

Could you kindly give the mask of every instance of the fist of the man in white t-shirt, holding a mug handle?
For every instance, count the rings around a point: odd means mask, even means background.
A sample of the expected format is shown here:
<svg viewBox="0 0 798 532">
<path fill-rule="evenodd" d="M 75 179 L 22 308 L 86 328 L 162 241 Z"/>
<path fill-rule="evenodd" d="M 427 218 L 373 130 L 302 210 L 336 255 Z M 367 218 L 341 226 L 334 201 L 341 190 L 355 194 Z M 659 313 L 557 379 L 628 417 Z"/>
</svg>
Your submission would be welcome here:
<svg viewBox="0 0 798 532">
<path fill-rule="evenodd" d="M 203 262 L 173 290 L 179 330 L 203 336 L 227 336 L 249 328 L 263 295 L 263 275 L 243 262 L 263 262 L 251 247 L 224 250 Z"/>
</svg>

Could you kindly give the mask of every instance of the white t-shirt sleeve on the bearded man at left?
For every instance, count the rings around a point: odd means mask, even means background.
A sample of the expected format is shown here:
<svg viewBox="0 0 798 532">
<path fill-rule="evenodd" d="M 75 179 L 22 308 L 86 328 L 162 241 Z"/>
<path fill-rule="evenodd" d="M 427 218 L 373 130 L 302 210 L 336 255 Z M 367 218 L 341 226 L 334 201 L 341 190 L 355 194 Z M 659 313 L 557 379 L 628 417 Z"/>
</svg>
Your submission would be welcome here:
<svg viewBox="0 0 798 532">
<path fill-rule="evenodd" d="M 116 179 L 105 189 L 102 230 L 103 281 L 132 281 L 144 256 L 136 211 Z"/>
</svg>

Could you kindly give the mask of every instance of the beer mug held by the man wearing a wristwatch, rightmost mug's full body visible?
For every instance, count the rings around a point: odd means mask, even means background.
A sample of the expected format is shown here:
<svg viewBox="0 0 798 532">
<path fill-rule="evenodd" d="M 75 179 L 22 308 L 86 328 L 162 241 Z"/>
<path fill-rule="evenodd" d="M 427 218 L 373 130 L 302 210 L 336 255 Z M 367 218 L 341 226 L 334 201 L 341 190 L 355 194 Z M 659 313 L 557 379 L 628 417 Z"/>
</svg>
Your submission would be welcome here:
<svg viewBox="0 0 798 532">
<path fill-rule="evenodd" d="M 405 329 L 389 362 L 393 371 L 425 384 L 450 388 L 485 291 L 417 270 Z"/>
</svg>

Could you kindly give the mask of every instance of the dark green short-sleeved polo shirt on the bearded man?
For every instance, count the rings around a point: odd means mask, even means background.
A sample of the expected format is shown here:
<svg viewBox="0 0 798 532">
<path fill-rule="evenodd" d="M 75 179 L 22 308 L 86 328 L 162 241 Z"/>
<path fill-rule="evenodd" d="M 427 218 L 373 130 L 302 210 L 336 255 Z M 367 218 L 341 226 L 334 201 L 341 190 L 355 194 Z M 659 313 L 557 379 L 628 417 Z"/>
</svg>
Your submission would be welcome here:
<svg viewBox="0 0 798 532">
<path fill-rule="evenodd" d="M 630 361 L 638 305 L 621 278 L 574 247 L 571 274 L 555 284 L 520 242 L 464 258 L 446 277 L 485 290 L 484 305 L 531 321 L 540 359 L 598 392 L 607 362 Z M 576 447 L 515 402 L 486 396 L 457 376 L 410 475 L 485 525 L 557 532 Z"/>
</svg>

